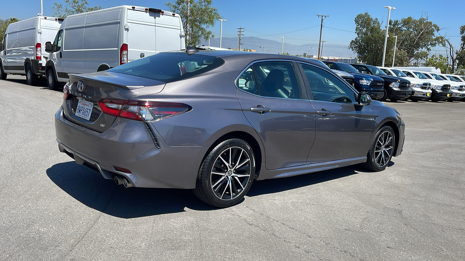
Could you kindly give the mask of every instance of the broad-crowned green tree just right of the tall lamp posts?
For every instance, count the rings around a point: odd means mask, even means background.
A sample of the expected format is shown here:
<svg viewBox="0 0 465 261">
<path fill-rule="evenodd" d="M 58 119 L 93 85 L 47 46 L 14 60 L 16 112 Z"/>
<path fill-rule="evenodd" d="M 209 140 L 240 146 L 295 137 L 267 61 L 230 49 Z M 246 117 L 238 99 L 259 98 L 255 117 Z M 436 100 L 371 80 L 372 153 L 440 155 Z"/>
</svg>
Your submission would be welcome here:
<svg viewBox="0 0 465 261">
<path fill-rule="evenodd" d="M 428 20 L 428 16 L 393 20 L 389 24 L 389 33 L 397 35 L 399 50 L 405 51 L 409 62 L 416 64 L 428 57 L 431 47 L 444 45 L 443 37 L 436 35 L 440 28 Z"/>
</svg>

